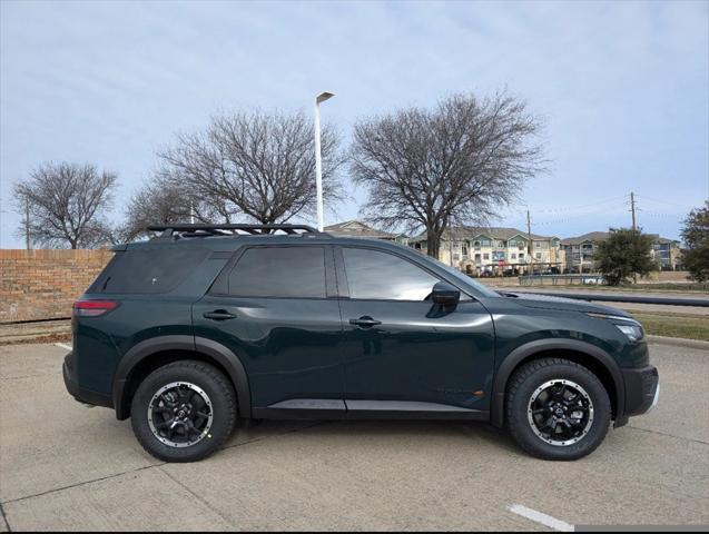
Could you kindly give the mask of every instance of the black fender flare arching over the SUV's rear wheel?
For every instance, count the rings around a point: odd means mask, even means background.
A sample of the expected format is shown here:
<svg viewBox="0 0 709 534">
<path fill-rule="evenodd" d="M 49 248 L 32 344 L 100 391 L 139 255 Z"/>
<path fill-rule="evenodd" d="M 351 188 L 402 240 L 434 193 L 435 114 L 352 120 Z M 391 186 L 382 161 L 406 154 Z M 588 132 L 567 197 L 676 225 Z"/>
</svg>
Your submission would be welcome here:
<svg viewBox="0 0 709 534">
<path fill-rule="evenodd" d="M 238 413 L 240 417 L 252 416 L 252 394 L 248 375 L 239 357 L 220 343 L 197 336 L 170 335 L 146 339 L 136 344 L 121 358 L 114 375 L 114 406 L 116 417 L 126 419 L 130 416 L 126 400 L 126 384 L 136 366 L 151 355 L 164 350 L 189 350 L 200 353 L 217 362 L 229 375 L 236 389 Z"/>
</svg>

